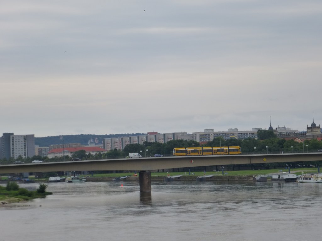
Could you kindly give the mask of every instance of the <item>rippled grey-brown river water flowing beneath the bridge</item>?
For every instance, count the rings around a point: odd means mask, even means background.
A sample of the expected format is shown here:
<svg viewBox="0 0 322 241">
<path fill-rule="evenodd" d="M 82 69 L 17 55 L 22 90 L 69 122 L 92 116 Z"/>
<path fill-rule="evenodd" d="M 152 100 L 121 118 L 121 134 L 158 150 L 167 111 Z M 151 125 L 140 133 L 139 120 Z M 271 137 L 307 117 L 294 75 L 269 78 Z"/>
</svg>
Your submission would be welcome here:
<svg viewBox="0 0 322 241">
<path fill-rule="evenodd" d="M 2 184 L 5 185 L 5 184 Z M 29 190 L 38 183 L 19 184 Z M 0 207 L 0 239 L 319 240 L 321 183 L 48 183 L 53 195 Z"/>
</svg>

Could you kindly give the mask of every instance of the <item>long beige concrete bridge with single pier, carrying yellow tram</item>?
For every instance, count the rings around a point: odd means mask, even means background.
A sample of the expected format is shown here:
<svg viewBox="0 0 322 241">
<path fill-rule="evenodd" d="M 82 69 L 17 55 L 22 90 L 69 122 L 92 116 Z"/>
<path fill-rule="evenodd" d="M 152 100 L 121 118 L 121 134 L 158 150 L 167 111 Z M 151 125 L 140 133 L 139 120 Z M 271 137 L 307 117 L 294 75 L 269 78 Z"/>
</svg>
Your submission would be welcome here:
<svg viewBox="0 0 322 241">
<path fill-rule="evenodd" d="M 170 156 L 0 165 L 1 174 L 52 171 L 139 171 L 140 192 L 151 192 L 151 170 L 196 166 L 322 161 L 322 153 Z"/>
</svg>

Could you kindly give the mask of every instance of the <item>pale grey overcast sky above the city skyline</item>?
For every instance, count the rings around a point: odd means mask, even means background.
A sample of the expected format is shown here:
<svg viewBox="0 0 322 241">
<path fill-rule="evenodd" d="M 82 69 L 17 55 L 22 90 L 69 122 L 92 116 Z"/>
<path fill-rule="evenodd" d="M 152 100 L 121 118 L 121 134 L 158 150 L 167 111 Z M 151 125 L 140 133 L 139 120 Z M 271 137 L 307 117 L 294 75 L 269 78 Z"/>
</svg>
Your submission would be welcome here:
<svg viewBox="0 0 322 241">
<path fill-rule="evenodd" d="M 0 136 L 322 124 L 322 2 L 3 0 Z"/>
</svg>

